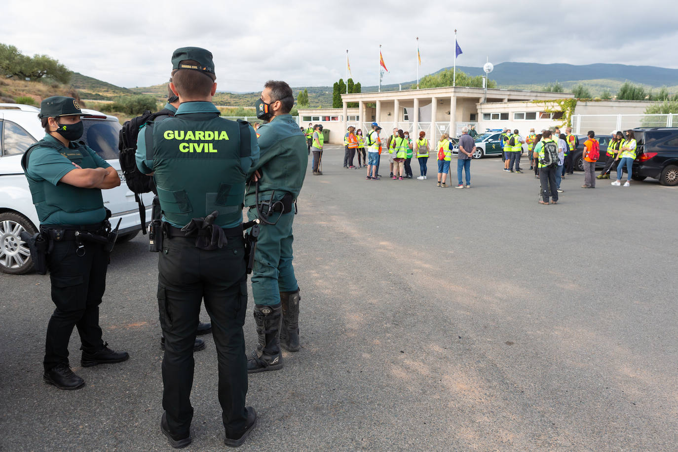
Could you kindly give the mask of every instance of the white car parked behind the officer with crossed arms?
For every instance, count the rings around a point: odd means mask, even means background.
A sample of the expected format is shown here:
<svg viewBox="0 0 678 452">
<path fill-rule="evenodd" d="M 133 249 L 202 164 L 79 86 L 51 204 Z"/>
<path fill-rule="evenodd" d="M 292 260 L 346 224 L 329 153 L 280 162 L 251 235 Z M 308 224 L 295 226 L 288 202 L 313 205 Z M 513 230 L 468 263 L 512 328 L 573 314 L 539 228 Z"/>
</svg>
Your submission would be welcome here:
<svg viewBox="0 0 678 452">
<path fill-rule="evenodd" d="M 33 270 L 28 246 L 19 237 L 22 230 L 35 233 L 39 220 L 28 181 L 21 167 L 21 157 L 31 144 L 45 136 L 37 115 L 39 108 L 22 104 L 0 104 L 0 271 L 23 274 Z M 82 140 L 117 169 L 121 176 L 118 161 L 118 136 L 121 125 L 114 116 L 105 115 L 96 110 L 83 112 L 93 115 L 83 117 Z M 134 201 L 134 193 L 127 188 L 124 180 L 121 185 L 110 190 L 102 190 L 104 206 L 113 213 L 111 224 L 115 227 L 121 219 L 118 240 L 132 239 L 141 230 L 139 206 Z M 143 196 L 148 206 L 146 218 L 151 218 L 153 193 Z"/>
</svg>

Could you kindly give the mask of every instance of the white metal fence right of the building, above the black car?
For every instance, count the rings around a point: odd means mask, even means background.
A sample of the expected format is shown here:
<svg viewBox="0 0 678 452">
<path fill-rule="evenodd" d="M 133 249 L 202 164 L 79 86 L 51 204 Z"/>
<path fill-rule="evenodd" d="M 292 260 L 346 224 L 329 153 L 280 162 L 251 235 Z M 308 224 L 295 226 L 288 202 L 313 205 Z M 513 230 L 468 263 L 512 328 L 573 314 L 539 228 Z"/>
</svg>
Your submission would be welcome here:
<svg viewBox="0 0 678 452">
<path fill-rule="evenodd" d="M 635 127 L 674 127 L 678 126 L 678 115 L 573 115 L 572 130 L 582 135 L 589 130 L 597 134 L 612 133 L 615 130 L 634 129 Z"/>
</svg>

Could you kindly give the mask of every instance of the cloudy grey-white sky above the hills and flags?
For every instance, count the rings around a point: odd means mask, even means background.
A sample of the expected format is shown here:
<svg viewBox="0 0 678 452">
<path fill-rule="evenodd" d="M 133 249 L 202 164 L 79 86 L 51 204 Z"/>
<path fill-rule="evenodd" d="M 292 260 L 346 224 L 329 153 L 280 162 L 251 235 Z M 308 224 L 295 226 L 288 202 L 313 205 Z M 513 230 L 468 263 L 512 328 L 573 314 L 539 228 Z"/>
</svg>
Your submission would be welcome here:
<svg viewBox="0 0 678 452">
<path fill-rule="evenodd" d="M 2 0 L 0 43 L 47 54 L 124 87 L 167 81 L 177 47 L 214 54 L 218 89 L 257 91 L 268 79 L 362 85 L 416 79 L 454 61 L 622 63 L 678 68 L 675 1 L 231 1 Z M 549 5 L 547 8 L 544 5 Z"/>
</svg>

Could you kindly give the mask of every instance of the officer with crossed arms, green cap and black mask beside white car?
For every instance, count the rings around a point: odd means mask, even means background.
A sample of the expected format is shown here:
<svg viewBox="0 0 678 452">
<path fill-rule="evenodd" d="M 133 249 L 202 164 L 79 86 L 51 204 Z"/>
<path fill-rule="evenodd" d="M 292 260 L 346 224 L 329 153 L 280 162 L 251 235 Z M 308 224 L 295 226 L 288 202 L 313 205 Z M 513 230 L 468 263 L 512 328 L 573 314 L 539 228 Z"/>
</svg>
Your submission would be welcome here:
<svg viewBox="0 0 678 452">
<path fill-rule="evenodd" d="M 68 364 L 73 327 L 80 335 L 83 367 L 129 358 L 126 352 L 108 348 L 99 327 L 111 215 L 104 209 L 101 190 L 119 186 L 120 178 L 94 150 L 77 142 L 83 134 L 81 116 L 74 98 L 43 100 L 38 117 L 45 138 L 28 148 L 22 159 L 40 234 L 49 244 L 46 262 L 56 305 L 47 325 L 43 379 L 60 389 L 85 384 Z"/>
</svg>

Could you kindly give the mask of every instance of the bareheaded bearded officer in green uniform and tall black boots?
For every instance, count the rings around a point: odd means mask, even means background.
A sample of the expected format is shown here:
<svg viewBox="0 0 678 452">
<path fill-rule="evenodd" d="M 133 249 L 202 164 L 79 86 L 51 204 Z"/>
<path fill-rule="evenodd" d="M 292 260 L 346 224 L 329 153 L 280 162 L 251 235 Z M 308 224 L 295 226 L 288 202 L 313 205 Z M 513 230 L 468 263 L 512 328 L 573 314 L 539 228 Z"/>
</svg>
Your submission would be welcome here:
<svg viewBox="0 0 678 452">
<path fill-rule="evenodd" d="M 264 85 L 256 110 L 260 125 L 258 163 L 250 168 L 247 218 L 262 218 L 252 272 L 254 320 L 258 345 L 247 361 L 250 373 L 283 367 L 280 346 L 299 350 L 299 286 L 292 266 L 292 222 L 296 199 L 304 183 L 308 154 L 290 110 L 292 88 L 284 81 Z M 258 184 L 258 188 L 257 188 Z"/>
</svg>

